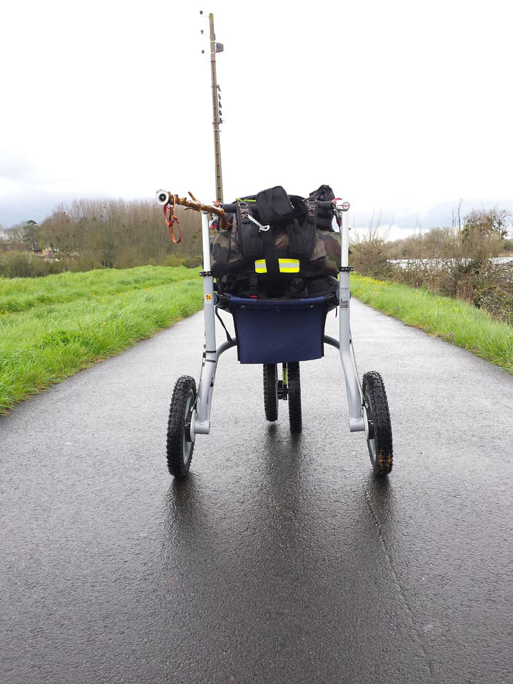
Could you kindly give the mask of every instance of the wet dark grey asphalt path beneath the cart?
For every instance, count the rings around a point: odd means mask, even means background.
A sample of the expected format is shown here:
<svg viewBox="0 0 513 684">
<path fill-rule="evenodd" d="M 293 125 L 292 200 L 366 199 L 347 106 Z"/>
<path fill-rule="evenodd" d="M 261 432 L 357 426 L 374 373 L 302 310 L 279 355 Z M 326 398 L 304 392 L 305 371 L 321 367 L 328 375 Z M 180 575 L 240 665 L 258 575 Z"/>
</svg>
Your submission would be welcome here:
<svg viewBox="0 0 513 684">
<path fill-rule="evenodd" d="M 327 347 L 302 364 L 300 437 L 227 351 L 211 435 L 173 482 L 168 403 L 198 379 L 202 327 L 0 418 L 2 683 L 511 683 L 513 376 L 354 301 L 388 480 Z"/>
</svg>

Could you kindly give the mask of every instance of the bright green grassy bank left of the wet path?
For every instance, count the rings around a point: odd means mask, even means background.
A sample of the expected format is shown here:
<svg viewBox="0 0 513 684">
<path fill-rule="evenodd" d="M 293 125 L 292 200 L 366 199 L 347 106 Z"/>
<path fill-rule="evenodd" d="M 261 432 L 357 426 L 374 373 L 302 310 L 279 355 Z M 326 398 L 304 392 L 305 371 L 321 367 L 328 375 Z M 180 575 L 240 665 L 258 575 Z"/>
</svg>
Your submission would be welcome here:
<svg viewBox="0 0 513 684">
<path fill-rule="evenodd" d="M 0 413 L 201 306 L 183 267 L 0 278 Z"/>
</svg>

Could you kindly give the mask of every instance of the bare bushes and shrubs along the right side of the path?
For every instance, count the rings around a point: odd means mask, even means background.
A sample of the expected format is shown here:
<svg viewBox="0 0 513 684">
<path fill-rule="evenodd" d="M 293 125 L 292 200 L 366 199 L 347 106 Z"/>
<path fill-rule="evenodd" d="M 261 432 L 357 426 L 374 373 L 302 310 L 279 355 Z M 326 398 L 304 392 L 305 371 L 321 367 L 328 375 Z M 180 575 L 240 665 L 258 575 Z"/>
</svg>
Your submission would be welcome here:
<svg viewBox="0 0 513 684">
<path fill-rule="evenodd" d="M 513 240 L 505 210 L 455 211 L 449 227 L 400 240 L 369 227 L 351 243 L 351 264 L 360 274 L 426 288 L 464 299 L 513 324 Z M 397 261 L 406 260 L 406 261 Z"/>
</svg>

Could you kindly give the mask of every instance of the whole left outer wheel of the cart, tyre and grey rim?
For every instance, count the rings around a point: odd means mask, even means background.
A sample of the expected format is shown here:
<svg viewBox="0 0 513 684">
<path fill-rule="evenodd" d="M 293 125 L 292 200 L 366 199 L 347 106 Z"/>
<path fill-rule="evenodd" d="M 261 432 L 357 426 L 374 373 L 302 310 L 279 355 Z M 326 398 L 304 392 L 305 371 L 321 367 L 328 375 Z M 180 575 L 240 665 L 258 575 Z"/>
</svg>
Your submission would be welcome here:
<svg viewBox="0 0 513 684">
<path fill-rule="evenodd" d="M 191 466 L 194 441 L 190 428 L 195 401 L 194 378 L 187 375 L 178 378 L 169 409 L 167 439 L 168 469 L 175 477 L 186 477 Z"/>
</svg>

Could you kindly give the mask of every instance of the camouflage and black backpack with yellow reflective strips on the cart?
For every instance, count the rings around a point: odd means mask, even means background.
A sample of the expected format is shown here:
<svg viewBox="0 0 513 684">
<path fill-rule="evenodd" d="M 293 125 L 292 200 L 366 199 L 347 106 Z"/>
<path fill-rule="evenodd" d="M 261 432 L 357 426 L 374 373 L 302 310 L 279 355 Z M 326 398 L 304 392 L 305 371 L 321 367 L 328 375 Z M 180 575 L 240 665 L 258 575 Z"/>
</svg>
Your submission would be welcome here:
<svg viewBox="0 0 513 684">
<path fill-rule="evenodd" d="M 331 227 L 333 211 L 321 211 L 313 195 L 304 200 L 277 186 L 234 203 L 229 228 L 211 238 L 220 292 L 303 298 L 334 291 L 340 233 Z"/>
</svg>

